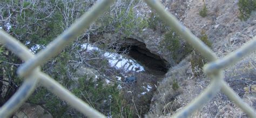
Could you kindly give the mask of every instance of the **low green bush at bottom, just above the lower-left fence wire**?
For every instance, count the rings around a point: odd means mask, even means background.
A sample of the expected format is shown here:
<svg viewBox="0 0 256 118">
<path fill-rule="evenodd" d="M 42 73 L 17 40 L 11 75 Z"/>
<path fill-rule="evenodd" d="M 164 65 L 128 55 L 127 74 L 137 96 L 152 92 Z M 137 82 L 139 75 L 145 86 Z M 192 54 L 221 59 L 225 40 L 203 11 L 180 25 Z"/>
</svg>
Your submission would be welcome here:
<svg viewBox="0 0 256 118">
<path fill-rule="evenodd" d="M 78 87 L 73 94 L 89 103 L 89 105 L 105 115 L 111 113 L 112 117 L 129 116 L 129 105 L 115 85 L 104 85 L 103 80 L 93 81 L 86 76 L 78 79 Z"/>
</svg>

